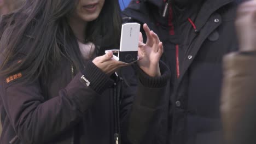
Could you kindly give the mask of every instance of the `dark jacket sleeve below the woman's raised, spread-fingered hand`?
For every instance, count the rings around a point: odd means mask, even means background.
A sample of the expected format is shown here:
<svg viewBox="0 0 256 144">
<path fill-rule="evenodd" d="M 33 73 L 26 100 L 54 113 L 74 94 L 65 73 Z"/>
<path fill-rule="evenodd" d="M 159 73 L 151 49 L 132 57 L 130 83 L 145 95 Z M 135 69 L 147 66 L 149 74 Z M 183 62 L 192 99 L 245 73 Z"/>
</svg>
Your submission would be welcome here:
<svg viewBox="0 0 256 144">
<path fill-rule="evenodd" d="M 135 69 L 138 71 L 138 80 L 133 80 L 130 87 L 123 90 L 122 139 L 125 143 L 132 144 L 152 143 L 158 133 L 161 112 L 168 104 L 166 91 L 170 71 L 162 62 L 160 62 L 162 75 L 159 77 L 149 77 L 138 67 Z M 132 95 L 136 96 L 132 97 Z"/>
</svg>

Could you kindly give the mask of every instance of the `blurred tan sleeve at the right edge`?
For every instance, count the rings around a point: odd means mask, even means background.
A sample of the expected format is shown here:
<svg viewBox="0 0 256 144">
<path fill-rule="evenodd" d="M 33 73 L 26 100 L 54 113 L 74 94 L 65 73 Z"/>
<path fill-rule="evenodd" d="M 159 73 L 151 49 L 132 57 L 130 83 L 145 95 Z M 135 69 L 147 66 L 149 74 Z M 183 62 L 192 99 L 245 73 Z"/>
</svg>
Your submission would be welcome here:
<svg viewBox="0 0 256 144">
<path fill-rule="evenodd" d="M 228 143 L 233 143 L 235 129 L 245 124 L 238 124 L 246 112 L 245 108 L 255 106 L 250 103 L 256 95 L 256 52 L 233 52 L 224 57 L 223 63 L 221 112 L 225 138 Z"/>
</svg>

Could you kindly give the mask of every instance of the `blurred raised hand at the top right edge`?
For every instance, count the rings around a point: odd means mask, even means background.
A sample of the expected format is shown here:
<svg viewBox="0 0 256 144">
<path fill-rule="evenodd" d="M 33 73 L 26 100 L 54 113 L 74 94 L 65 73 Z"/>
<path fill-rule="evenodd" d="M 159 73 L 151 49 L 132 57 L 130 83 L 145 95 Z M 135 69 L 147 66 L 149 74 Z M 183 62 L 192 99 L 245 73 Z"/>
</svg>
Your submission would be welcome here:
<svg viewBox="0 0 256 144">
<path fill-rule="evenodd" d="M 236 31 L 241 51 L 256 51 L 256 1 L 248 1 L 237 10 Z"/>
</svg>

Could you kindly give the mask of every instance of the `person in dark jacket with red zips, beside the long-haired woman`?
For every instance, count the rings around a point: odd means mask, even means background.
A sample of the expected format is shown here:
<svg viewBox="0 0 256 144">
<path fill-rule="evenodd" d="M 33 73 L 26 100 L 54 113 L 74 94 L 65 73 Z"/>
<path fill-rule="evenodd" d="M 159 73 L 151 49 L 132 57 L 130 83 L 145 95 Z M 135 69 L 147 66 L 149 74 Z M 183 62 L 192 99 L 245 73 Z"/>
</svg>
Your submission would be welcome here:
<svg viewBox="0 0 256 144">
<path fill-rule="evenodd" d="M 172 74 L 161 123 L 148 143 L 221 143 L 222 57 L 237 49 L 236 6 L 233 0 L 133 0 L 123 11 L 125 20 L 148 23 L 159 35 Z"/>
</svg>

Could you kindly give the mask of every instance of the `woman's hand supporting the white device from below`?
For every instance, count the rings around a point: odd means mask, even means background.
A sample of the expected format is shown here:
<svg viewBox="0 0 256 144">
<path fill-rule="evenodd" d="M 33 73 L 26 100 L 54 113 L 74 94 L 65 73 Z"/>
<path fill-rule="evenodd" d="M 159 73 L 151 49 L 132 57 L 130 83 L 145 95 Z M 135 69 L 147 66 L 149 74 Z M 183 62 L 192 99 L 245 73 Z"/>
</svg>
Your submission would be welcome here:
<svg viewBox="0 0 256 144">
<path fill-rule="evenodd" d="M 94 63 L 98 68 L 100 68 L 107 75 L 113 74 L 115 72 L 115 70 L 117 70 L 120 67 L 129 65 L 129 64 L 126 64 L 126 63 L 123 63 L 120 61 L 116 61 L 112 57 L 113 57 L 113 53 L 108 52 L 107 54 L 105 54 L 103 56 L 96 57 L 92 61 L 92 63 Z"/>
</svg>

